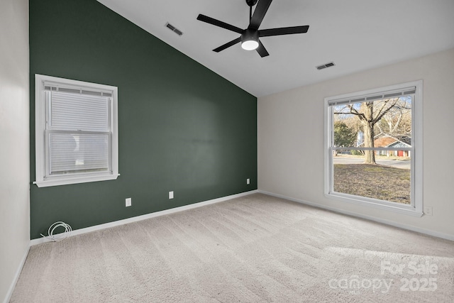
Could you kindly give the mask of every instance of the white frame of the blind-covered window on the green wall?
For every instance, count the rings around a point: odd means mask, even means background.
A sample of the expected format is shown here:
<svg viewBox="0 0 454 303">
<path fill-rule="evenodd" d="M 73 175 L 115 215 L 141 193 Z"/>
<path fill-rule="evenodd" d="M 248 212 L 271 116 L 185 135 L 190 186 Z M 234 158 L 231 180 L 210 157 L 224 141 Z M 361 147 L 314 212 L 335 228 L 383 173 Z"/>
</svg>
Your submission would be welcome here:
<svg viewBox="0 0 454 303">
<path fill-rule="evenodd" d="M 48 175 L 49 143 L 47 137 L 52 131 L 46 129 L 48 106 L 45 104 L 45 85 L 111 94 L 109 106 L 109 170 L 105 172 L 74 172 L 68 175 Z M 38 187 L 51 187 L 65 184 L 116 180 L 118 176 L 118 87 L 35 74 L 35 182 L 33 184 L 36 184 Z"/>
</svg>

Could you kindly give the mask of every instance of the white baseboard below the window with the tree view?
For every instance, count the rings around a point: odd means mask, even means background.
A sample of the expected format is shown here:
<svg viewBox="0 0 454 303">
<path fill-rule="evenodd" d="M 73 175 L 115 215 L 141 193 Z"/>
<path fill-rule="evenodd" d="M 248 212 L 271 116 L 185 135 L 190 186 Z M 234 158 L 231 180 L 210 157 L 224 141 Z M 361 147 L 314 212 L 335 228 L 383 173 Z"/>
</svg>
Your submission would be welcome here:
<svg viewBox="0 0 454 303">
<path fill-rule="evenodd" d="M 272 192 L 265 192 L 264 190 L 260 190 L 260 189 L 258 190 L 258 192 L 260 192 L 261 194 L 267 194 L 267 195 L 272 196 L 272 197 L 282 198 L 282 199 L 286 199 L 286 200 L 289 200 L 289 201 L 298 202 L 298 203 L 301 203 L 301 204 L 306 204 L 306 205 L 309 205 L 309 206 L 318 207 L 320 209 L 327 209 L 329 211 L 334 211 L 334 212 L 339 213 L 339 214 L 346 214 L 348 216 L 356 216 L 356 217 L 361 218 L 361 219 L 375 221 L 375 222 L 378 222 L 378 223 L 382 223 L 382 224 L 387 224 L 387 225 L 391 225 L 391 226 L 394 226 L 394 227 L 403 228 L 403 229 L 406 229 L 406 230 L 409 230 L 409 231 L 416 231 L 417 233 L 424 233 L 424 234 L 429 235 L 429 236 L 435 236 L 435 237 L 438 237 L 438 238 L 443 238 L 443 239 L 446 239 L 446 240 L 454 241 L 454 236 L 450 235 L 448 233 L 440 233 L 438 231 L 431 231 L 431 230 L 426 229 L 426 228 L 419 228 L 419 227 L 406 225 L 406 224 L 402 224 L 402 223 L 398 223 L 398 222 L 394 222 L 394 221 L 389 221 L 389 220 L 386 220 L 386 219 L 375 218 L 374 216 L 366 216 L 366 215 L 358 214 L 358 213 L 355 213 L 355 212 L 352 212 L 352 211 L 345 211 L 343 209 L 338 209 L 336 207 L 325 206 L 325 205 L 316 204 L 316 203 L 305 201 L 305 200 L 301 200 L 301 199 L 287 197 L 287 196 L 284 196 L 282 194 L 275 194 L 275 193 L 272 193 Z"/>
</svg>

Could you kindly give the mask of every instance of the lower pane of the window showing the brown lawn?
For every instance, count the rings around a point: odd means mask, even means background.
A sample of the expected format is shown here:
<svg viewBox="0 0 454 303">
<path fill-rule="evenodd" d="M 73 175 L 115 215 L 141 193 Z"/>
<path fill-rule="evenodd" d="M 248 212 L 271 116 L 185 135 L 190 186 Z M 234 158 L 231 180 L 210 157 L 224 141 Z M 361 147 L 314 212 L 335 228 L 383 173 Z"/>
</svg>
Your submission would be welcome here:
<svg viewBox="0 0 454 303">
<path fill-rule="evenodd" d="M 362 155 L 352 155 L 350 150 L 336 152 L 333 153 L 334 192 L 410 204 L 411 153 L 408 150 L 375 151 L 377 164 L 366 164 Z"/>
</svg>

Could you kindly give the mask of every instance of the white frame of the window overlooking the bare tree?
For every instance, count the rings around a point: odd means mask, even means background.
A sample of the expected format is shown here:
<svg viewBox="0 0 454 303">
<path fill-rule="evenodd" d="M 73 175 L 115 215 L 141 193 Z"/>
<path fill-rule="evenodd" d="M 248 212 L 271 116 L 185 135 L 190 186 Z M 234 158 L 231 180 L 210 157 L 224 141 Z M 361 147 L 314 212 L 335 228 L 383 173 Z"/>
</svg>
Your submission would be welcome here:
<svg viewBox="0 0 454 303">
<path fill-rule="evenodd" d="M 331 102 L 339 99 L 359 99 L 365 95 L 380 94 L 383 92 L 402 90 L 406 87 L 415 87 L 414 99 L 411 103 L 411 204 L 399 204 L 369 197 L 355 196 L 352 194 L 343 194 L 333 191 L 333 115 Z M 360 92 L 342 94 L 324 99 L 324 194 L 325 197 L 336 199 L 341 202 L 370 206 L 376 209 L 384 209 L 408 214 L 411 216 L 423 215 L 423 81 L 406 82 L 402 84 L 390 85 L 387 87 L 378 87 L 376 89 L 367 89 Z M 345 148 L 350 149 L 350 148 Z M 355 148 L 358 150 L 367 150 L 372 148 Z M 373 148 L 373 150 L 390 150 L 393 148 Z M 402 148 L 394 148 L 395 150 Z"/>
</svg>

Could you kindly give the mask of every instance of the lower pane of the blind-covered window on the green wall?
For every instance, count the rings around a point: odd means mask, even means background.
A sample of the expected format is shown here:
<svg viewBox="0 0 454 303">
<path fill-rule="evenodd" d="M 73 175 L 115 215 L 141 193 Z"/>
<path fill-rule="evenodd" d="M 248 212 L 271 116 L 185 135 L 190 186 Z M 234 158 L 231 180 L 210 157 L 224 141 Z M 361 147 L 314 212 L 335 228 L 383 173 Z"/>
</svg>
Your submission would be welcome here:
<svg viewBox="0 0 454 303">
<path fill-rule="evenodd" d="M 50 134 L 50 175 L 108 170 L 108 135 Z"/>
</svg>

